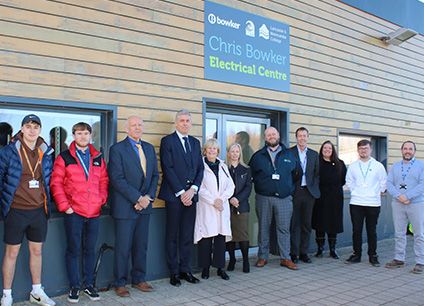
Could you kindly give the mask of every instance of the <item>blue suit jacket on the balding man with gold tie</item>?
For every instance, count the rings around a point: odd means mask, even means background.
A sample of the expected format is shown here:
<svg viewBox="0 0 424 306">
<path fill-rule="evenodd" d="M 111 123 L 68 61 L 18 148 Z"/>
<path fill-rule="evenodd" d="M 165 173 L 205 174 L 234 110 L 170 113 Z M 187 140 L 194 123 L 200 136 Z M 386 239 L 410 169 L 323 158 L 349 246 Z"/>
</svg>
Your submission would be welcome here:
<svg viewBox="0 0 424 306">
<path fill-rule="evenodd" d="M 140 196 L 156 196 L 159 181 L 158 162 L 155 148 L 141 141 L 146 156 L 146 176 L 141 169 L 140 158 L 128 137 L 114 144 L 109 151 L 109 180 L 111 215 L 117 219 L 134 219 L 138 214 L 148 214 L 152 210 L 150 203 L 141 212 L 134 209 Z"/>
</svg>

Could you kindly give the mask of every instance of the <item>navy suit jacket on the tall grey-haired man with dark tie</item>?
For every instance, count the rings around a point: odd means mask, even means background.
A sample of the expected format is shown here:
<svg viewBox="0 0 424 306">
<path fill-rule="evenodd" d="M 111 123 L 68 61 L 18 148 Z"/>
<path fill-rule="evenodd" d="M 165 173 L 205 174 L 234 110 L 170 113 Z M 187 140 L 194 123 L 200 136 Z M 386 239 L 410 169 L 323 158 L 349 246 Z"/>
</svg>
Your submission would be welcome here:
<svg viewBox="0 0 424 306">
<path fill-rule="evenodd" d="M 163 179 L 158 195 L 159 199 L 167 202 L 179 201 L 175 194 L 187 189 L 188 181 L 200 188 L 204 170 L 200 142 L 192 136 L 188 136 L 188 141 L 191 148 L 191 161 L 176 132 L 162 138 L 160 164 Z M 193 200 L 197 201 L 197 195 Z"/>
</svg>

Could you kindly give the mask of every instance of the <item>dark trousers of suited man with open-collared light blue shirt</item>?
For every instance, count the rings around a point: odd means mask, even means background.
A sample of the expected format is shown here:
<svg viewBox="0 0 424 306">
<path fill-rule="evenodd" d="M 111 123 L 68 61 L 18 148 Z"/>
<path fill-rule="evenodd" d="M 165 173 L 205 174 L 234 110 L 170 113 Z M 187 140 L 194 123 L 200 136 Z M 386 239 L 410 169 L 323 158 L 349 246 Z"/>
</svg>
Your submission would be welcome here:
<svg viewBox="0 0 424 306">
<path fill-rule="evenodd" d="M 290 227 L 290 254 L 299 256 L 308 253 L 312 231 L 312 212 L 315 198 L 307 188 L 296 188 L 293 197 L 293 214 Z"/>
</svg>

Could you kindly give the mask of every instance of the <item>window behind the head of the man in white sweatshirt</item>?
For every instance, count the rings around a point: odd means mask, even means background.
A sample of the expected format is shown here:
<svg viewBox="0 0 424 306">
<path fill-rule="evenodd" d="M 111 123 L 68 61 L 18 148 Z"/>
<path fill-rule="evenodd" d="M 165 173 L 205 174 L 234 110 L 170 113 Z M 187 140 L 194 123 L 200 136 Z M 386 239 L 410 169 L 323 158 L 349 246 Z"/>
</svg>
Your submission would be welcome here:
<svg viewBox="0 0 424 306">
<path fill-rule="evenodd" d="M 387 168 L 387 137 L 370 134 L 339 133 L 339 157 L 346 166 L 358 159 L 357 143 L 368 139 L 372 144 L 371 156 Z"/>
</svg>

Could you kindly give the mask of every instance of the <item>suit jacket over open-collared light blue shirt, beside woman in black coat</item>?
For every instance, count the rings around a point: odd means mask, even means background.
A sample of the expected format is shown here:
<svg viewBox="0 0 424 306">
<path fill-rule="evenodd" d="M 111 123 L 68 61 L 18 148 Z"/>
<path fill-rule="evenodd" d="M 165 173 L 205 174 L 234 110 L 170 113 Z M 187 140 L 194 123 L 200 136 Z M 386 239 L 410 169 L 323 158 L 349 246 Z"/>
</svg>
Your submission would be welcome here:
<svg viewBox="0 0 424 306">
<path fill-rule="evenodd" d="M 296 160 L 299 164 L 299 177 L 296 181 L 296 186 L 300 186 L 302 182 L 302 176 L 303 176 L 303 170 L 300 166 L 300 158 L 299 158 L 299 151 L 297 149 L 297 146 L 293 146 L 290 149 L 293 153 L 293 155 L 296 157 Z M 314 151 L 310 148 L 308 148 L 308 151 L 306 151 L 306 187 L 308 188 L 311 195 L 318 199 L 320 197 L 320 190 L 319 190 L 319 155 L 317 151 Z"/>
</svg>

